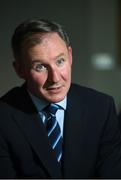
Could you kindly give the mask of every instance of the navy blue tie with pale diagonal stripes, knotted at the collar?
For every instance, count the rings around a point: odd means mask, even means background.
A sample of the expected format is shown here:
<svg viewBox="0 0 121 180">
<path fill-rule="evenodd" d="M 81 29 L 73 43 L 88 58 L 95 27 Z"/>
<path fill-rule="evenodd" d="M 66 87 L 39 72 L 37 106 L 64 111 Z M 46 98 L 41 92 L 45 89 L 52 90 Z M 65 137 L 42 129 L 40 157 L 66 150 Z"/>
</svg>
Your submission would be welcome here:
<svg viewBox="0 0 121 180">
<path fill-rule="evenodd" d="M 59 108 L 60 107 L 55 104 L 50 104 L 45 108 L 48 115 L 45 121 L 47 134 L 58 162 L 60 162 L 62 156 L 62 136 L 59 123 L 56 119 L 56 112 Z"/>
</svg>

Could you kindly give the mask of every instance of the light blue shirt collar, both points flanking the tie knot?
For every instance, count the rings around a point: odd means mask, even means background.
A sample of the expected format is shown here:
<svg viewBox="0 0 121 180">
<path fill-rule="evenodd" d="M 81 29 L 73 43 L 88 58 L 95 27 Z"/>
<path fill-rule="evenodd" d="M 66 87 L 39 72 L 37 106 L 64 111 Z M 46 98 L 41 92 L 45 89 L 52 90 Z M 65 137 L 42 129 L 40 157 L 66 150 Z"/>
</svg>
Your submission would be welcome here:
<svg viewBox="0 0 121 180">
<path fill-rule="evenodd" d="M 48 102 L 46 100 L 43 100 L 42 98 L 36 97 L 30 91 L 28 91 L 28 93 L 29 93 L 34 105 L 36 106 L 38 112 L 41 112 L 48 105 Z M 55 104 L 61 106 L 62 109 L 66 110 L 67 96 L 65 96 L 65 98 L 62 101 L 55 103 Z"/>
</svg>

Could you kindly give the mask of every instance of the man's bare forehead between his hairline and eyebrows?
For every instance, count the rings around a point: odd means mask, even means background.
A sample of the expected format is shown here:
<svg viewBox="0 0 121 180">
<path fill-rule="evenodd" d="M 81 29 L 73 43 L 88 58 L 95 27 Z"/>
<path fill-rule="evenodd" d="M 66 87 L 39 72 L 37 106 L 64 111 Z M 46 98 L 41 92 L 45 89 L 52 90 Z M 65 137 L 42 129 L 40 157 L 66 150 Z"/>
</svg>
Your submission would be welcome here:
<svg viewBox="0 0 121 180">
<path fill-rule="evenodd" d="M 36 35 L 35 38 L 38 38 L 38 43 L 28 43 L 24 47 L 24 55 L 27 55 L 29 58 L 54 58 L 54 56 L 59 56 L 59 54 L 67 53 L 66 43 L 57 33 L 47 33 L 42 37 Z"/>
</svg>

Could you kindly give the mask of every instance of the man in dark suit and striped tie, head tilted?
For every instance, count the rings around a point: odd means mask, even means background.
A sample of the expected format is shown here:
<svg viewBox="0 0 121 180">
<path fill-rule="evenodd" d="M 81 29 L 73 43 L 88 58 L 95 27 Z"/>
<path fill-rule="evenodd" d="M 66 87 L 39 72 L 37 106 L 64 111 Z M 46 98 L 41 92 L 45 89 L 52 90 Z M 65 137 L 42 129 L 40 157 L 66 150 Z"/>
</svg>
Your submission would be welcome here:
<svg viewBox="0 0 121 180">
<path fill-rule="evenodd" d="M 0 178 L 121 178 L 113 100 L 71 84 L 72 49 L 62 27 L 28 20 L 16 28 L 12 48 L 25 83 L 0 100 Z"/>
</svg>

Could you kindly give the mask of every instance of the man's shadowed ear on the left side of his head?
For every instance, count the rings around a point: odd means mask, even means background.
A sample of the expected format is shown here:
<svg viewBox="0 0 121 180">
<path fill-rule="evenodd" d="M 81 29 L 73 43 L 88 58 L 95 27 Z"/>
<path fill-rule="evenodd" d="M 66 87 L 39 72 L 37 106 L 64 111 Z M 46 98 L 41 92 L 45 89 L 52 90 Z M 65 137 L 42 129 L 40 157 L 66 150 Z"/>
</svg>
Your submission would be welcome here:
<svg viewBox="0 0 121 180">
<path fill-rule="evenodd" d="M 25 79 L 25 73 L 24 73 L 24 68 L 23 68 L 22 64 L 16 60 L 13 62 L 13 67 L 16 71 L 16 74 L 20 78 Z"/>
</svg>

